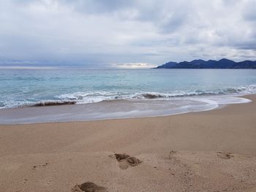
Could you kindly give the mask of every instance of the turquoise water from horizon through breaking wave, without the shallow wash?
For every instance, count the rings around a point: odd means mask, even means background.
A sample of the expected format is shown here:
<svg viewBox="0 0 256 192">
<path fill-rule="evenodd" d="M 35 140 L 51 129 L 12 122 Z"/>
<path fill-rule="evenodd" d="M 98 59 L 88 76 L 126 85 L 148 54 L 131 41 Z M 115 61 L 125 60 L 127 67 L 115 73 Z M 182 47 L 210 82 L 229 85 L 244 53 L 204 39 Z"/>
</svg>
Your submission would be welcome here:
<svg viewBox="0 0 256 192">
<path fill-rule="evenodd" d="M 0 107 L 255 93 L 256 70 L 1 69 Z"/>
</svg>

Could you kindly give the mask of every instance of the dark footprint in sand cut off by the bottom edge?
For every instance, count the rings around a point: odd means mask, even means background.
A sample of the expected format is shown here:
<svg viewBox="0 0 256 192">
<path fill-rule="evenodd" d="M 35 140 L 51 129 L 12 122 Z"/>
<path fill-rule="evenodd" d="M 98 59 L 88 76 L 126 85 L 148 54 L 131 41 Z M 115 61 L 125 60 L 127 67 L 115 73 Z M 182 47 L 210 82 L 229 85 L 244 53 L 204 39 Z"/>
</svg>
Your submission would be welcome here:
<svg viewBox="0 0 256 192">
<path fill-rule="evenodd" d="M 72 192 L 81 192 L 81 191 L 85 191 L 85 192 L 107 192 L 107 189 L 96 185 L 92 182 L 86 182 L 86 183 L 82 183 L 81 185 L 75 185 L 74 188 L 72 188 Z"/>
</svg>

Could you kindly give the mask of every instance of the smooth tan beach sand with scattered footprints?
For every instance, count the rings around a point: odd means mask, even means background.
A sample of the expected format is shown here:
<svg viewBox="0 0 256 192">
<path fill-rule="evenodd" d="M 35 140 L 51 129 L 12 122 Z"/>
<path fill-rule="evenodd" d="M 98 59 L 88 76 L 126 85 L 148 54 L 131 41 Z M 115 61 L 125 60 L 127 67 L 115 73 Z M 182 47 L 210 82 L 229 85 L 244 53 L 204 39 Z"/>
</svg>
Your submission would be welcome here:
<svg viewBox="0 0 256 192">
<path fill-rule="evenodd" d="M 245 97 L 184 115 L 0 126 L 0 191 L 256 191 L 256 96 Z"/>
</svg>

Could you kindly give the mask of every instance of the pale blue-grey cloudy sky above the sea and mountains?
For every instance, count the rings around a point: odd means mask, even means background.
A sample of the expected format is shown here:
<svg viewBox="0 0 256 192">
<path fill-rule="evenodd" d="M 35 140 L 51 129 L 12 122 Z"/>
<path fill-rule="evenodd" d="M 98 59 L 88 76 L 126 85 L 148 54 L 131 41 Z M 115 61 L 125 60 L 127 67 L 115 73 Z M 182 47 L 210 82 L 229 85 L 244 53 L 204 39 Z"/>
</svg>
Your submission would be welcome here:
<svg viewBox="0 0 256 192">
<path fill-rule="evenodd" d="M 256 60 L 256 0 L 0 0 L 1 66 Z"/>
</svg>

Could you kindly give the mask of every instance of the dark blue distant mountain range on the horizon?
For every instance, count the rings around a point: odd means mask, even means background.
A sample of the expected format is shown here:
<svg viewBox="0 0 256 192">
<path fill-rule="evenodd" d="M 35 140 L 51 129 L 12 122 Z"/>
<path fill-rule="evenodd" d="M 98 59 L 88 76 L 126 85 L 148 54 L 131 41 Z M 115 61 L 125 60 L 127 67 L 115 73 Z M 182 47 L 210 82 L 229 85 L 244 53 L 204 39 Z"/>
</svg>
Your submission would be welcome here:
<svg viewBox="0 0 256 192">
<path fill-rule="evenodd" d="M 179 63 L 170 61 L 157 66 L 156 69 L 256 69 L 256 61 L 235 62 L 226 58 L 222 58 L 219 61 L 204 61 L 202 59 Z"/>
</svg>

